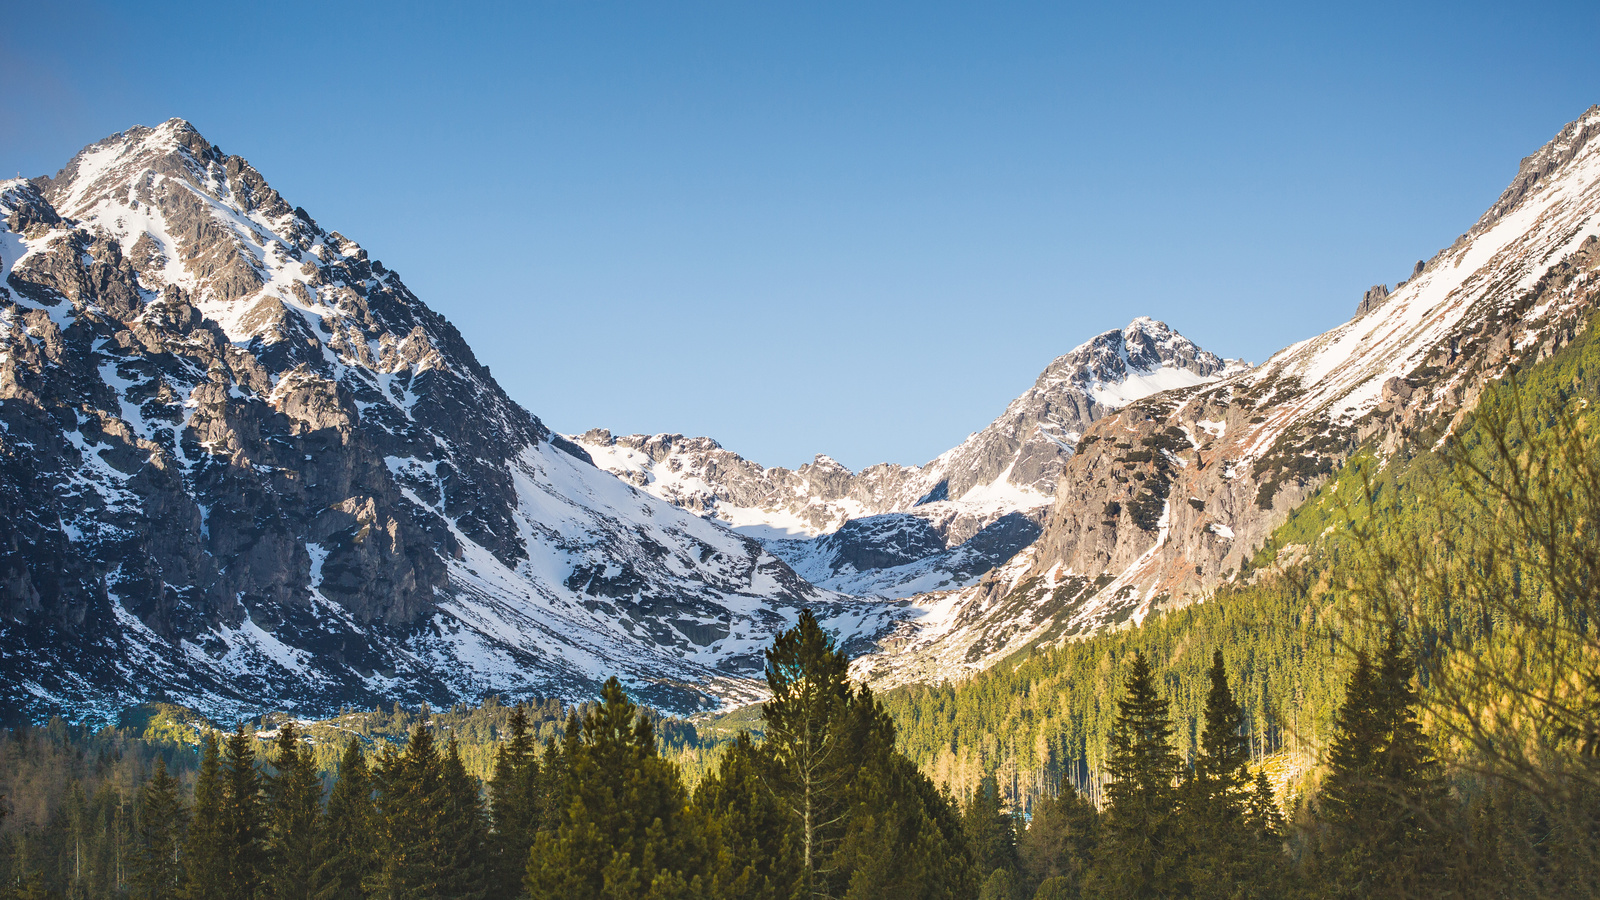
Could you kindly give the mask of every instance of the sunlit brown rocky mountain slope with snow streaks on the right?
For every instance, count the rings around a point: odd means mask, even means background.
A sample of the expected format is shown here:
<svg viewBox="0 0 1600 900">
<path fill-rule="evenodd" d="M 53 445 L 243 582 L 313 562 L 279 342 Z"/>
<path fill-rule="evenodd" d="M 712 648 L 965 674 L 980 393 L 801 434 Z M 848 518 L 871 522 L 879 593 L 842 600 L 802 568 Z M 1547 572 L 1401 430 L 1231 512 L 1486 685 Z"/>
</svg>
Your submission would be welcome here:
<svg viewBox="0 0 1600 900">
<path fill-rule="evenodd" d="M 1043 535 L 859 661 L 926 681 L 1203 601 L 1358 447 L 1438 434 L 1485 384 L 1547 357 L 1595 309 L 1600 107 L 1522 160 L 1499 200 L 1392 293 L 1248 372 L 1136 400 L 1067 460 Z"/>
</svg>

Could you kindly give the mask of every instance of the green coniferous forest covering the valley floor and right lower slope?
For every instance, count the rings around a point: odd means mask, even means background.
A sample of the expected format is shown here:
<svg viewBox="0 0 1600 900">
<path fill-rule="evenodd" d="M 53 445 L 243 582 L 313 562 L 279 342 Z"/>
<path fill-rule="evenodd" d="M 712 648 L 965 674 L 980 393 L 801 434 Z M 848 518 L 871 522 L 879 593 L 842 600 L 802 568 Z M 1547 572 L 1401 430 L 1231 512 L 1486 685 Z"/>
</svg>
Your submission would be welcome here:
<svg viewBox="0 0 1600 900">
<path fill-rule="evenodd" d="M 0 740 L 5 897 L 1600 895 L 1582 338 L 1358 453 L 1211 601 L 875 695 L 805 613 L 749 730 L 594 703 Z"/>
</svg>

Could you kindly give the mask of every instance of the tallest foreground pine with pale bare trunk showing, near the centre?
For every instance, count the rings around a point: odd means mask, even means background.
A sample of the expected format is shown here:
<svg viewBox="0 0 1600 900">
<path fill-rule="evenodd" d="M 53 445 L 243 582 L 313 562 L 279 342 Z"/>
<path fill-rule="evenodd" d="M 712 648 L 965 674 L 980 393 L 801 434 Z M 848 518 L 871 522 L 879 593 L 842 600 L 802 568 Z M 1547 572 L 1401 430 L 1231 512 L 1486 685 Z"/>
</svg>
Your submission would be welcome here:
<svg viewBox="0 0 1600 900">
<path fill-rule="evenodd" d="M 850 660 L 811 615 L 778 636 L 766 650 L 766 685 L 773 698 L 762 705 L 770 786 L 794 817 L 806 894 L 827 897 L 835 884 L 834 847 L 846 826 L 850 781 L 861 767 L 858 735 L 851 733 L 853 692 Z"/>
</svg>

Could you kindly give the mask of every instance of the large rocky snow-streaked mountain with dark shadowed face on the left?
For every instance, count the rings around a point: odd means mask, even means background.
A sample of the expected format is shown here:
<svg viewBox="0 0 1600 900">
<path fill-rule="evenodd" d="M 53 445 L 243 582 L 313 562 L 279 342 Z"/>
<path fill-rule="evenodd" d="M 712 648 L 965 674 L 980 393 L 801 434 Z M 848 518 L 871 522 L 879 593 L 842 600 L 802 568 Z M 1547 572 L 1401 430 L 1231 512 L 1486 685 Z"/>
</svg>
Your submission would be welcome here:
<svg viewBox="0 0 1600 900">
<path fill-rule="evenodd" d="M 187 122 L 0 183 L 0 716 L 749 695 L 896 607 L 637 492 Z"/>
</svg>

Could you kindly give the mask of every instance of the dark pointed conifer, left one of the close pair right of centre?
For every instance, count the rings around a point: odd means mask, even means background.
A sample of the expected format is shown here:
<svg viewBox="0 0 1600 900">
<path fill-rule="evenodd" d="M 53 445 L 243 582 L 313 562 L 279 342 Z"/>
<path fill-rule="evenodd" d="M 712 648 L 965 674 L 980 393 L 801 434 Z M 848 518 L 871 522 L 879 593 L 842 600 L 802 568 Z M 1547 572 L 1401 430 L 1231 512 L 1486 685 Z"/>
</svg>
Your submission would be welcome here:
<svg viewBox="0 0 1600 900">
<path fill-rule="evenodd" d="M 1171 897 L 1186 890 L 1171 737 L 1166 700 L 1155 690 L 1144 653 L 1134 653 L 1110 732 L 1109 802 L 1090 873 L 1096 897 Z"/>
</svg>

